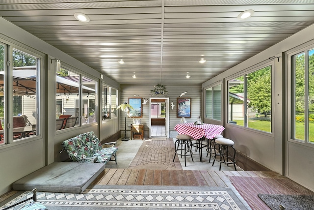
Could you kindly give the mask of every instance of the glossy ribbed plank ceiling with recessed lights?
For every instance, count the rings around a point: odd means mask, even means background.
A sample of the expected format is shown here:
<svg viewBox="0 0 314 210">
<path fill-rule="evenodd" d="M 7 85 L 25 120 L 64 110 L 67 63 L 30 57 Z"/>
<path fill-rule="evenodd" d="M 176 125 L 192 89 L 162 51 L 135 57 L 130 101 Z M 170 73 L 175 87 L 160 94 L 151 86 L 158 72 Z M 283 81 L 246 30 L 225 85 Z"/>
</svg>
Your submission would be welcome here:
<svg viewBox="0 0 314 210">
<path fill-rule="evenodd" d="M 314 1 L 1 0 L 0 16 L 120 84 L 201 84 L 313 24 Z"/>
</svg>

